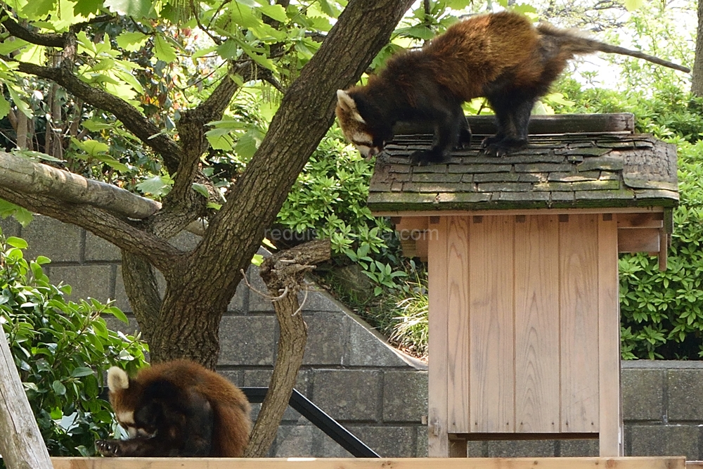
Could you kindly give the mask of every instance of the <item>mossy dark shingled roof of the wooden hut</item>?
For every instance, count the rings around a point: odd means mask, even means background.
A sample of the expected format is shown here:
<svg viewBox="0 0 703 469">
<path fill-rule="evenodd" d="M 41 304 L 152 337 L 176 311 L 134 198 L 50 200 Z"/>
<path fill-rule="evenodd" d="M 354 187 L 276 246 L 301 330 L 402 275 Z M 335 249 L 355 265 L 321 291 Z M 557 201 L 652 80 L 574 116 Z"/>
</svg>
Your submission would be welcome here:
<svg viewBox="0 0 703 469">
<path fill-rule="evenodd" d="M 489 157 L 479 148 L 483 137 L 477 133 L 493 131 L 487 119 L 470 119 L 475 134 L 470 147 L 453 151 L 451 160 L 439 165 L 413 166 L 408 158 L 415 150 L 430 148 L 432 134 L 396 135 L 376 160 L 370 210 L 673 207 L 678 203 L 676 146 L 633 134 L 630 114 L 534 117 L 529 146 L 503 157 Z"/>
</svg>

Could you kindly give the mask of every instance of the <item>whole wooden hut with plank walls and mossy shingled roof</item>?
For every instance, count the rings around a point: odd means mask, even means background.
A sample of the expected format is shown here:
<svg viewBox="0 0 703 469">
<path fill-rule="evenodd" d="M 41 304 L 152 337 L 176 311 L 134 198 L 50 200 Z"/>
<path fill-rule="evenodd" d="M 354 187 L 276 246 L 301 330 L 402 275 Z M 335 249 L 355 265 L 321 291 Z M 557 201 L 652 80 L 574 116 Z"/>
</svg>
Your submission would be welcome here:
<svg viewBox="0 0 703 469">
<path fill-rule="evenodd" d="M 628 114 L 536 117 L 505 157 L 478 136 L 413 167 L 432 143 L 414 133 L 378 158 L 368 206 L 429 263 L 429 456 L 562 438 L 623 454 L 618 253 L 666 268 L 678 201 L 676 148 L 633 129 Z"/>
</svg>

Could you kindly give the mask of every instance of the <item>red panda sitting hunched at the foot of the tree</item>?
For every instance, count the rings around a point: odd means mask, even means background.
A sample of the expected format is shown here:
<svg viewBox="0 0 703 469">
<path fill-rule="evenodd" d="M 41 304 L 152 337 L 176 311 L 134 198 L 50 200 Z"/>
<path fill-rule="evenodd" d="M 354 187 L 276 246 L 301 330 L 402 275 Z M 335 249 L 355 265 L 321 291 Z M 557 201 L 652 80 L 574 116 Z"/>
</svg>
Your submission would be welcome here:
<svg viewBox="0 0 703 469">
<path fill-rule="evenodd" d="M 134 378 L 112 366 L 108 388 L 129 439 L 96 442 L 103 456 L 236 458 L 249 443 L 250 405 L 244 393 L 193 361 L 155 364 Z"/>
</svg>

